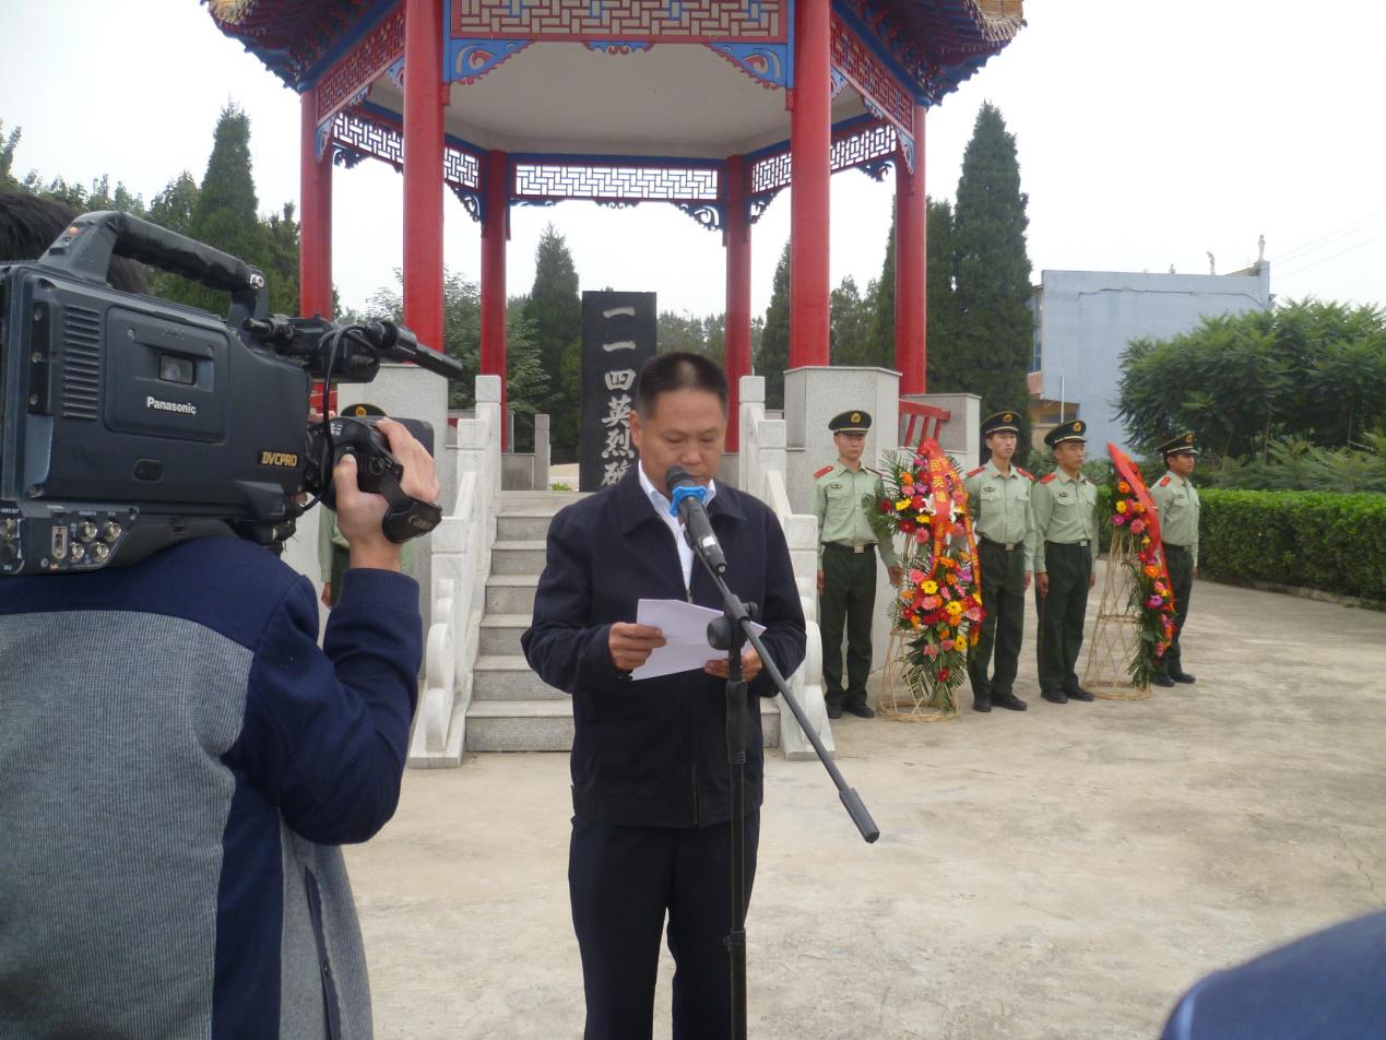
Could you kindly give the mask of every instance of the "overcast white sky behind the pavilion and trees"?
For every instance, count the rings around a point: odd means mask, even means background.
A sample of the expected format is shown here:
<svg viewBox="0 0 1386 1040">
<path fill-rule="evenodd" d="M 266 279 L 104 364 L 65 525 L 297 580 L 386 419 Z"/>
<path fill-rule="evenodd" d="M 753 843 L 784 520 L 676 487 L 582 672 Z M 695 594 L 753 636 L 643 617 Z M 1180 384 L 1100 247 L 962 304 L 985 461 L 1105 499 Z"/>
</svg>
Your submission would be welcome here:
<svg viewBox="0 0 1386 1040">
<path fill-rule="evenodd" d="M 956 191 L 983 100 L 1016 135 L 1042 269 L 1218 272 L 1256 259 L 1271 290 L 1386 302 L 1386 3 L 1028 0 L 1028 26 L 933 110 L 926 177 Z M 6 0 L 0 121 L 24 130 L 15 172 L 121 179 L 148 201 L 180 169 L 201 180 L 218 112 L 251 116 L 263 211 L 298 198 L 298 98 L 222 36 L 195 0 Z M 335 177 L 334 276 L 359 305 L 399 266 L 402 177 L 377 162 Z M 833 179 L 833 284 L 880 270 L 890 183 Z M 789 193 L 754 230 L 753 305 L 769 302 Z M 513 212 L 507 281 L 534 280 L 553 220 L 584 288 L 653 290 L 660 306 L 723 308 L 721 236 L 672 207 L 565 202 Z M 446 262 L 475 277 L 480 236 L 448 201 Z"/>
</svg>

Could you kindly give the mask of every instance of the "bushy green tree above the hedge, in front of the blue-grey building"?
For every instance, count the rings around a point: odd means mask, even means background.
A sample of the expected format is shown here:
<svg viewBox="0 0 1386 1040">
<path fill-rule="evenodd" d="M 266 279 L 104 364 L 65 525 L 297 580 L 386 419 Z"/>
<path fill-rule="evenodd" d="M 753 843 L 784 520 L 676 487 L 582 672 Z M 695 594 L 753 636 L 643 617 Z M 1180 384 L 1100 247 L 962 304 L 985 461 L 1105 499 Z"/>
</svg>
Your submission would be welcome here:
<svg viewBox="0 0 1386 1040">
<path fill-rule="evenodd" d="M 1306 300 L 1132 340 L 1116 413 L 1146 447 L 1193 430 L 1213 460 L 1361 444 L 1386 423 L 1386 312 Z"/>
</svg>

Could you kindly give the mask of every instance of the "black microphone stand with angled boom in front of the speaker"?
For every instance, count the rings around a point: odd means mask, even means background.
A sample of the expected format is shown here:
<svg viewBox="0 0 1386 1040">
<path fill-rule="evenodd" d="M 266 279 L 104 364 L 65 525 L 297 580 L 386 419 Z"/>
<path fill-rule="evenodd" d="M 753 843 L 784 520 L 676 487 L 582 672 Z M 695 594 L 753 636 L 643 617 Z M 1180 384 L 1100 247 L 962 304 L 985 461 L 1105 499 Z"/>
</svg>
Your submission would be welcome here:
<svg viewBox="0 0 1386 1040">
<path fill-rule="evenodd" d="M 794 695 L 790 693 L 789 684 L 780 675 L 779 668 L 765 649 L 765 643 L 761 642 L 760 635 L 751 628 L 754 605 L 743 603 L 728 588 L 717 567 L 704 555 L 704 548 L 690 537 L 686 526 L 683 535 L 693 546 L 693 552 L 703 562 L 703 567 L 712 578 L 712 584 L 717 585 L 717 591 L 722 593 L 722 617 L 708 623 L 707 638 L 715 649 L 726 650 L 726 761 L 732 772 L 732 930 L 726 937 L 726 951 L 732 958 L 732 1040 L 746 1040 L 746 820 L 743 814 L 746 806 L 746 749 L 751 738 L 751 725 L 748 714 L 750 703 L 746 696 L 747 685 L 742 678 L 742 646 L 747 641 L 755 648 L 765 673 L 773 679 L 780 695 L 784 697 L 784 703 L 789 704 L 790 711 L 794 713 L 794 718 L 798 720 L 805 736 L 808 736 L 808 742 L 814 745 L 814 750 L 827 770 L 827 775 L 837 785 L 839 797 L 841 797 L 847 814 L 857 824 L 857 829 L 861 831 L 862 838 L 868 843 L 875 842 L 880 838 L 880 828 L 876 826 L 876 821 L 866 811 L 866 804 L 861 800 L 861 795 L 847 786 L 843 774 L 839 772 L 833 760 L 827 757 L 827 749 L 823 747 L 823 742 L 818 739 L 818 734 L 809 725 L 804 709 L 800 707 Z"/>
</svg>

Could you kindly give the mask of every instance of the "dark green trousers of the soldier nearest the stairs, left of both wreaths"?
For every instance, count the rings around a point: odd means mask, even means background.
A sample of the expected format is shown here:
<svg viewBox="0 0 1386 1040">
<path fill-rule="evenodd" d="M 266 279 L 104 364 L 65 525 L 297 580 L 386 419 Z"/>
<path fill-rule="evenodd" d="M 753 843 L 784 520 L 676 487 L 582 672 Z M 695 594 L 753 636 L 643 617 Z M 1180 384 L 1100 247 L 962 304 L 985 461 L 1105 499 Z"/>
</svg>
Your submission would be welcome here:
<svg viewBox="0 0 1386 1040">
<path fill-rule="evenodd" d="M 870 677 L 870 621 L 876 610 L 876 546 L 823 545 L 823 591 L 818 596 L 823 625 L 823 700 L 866 703 Z M 843 623 L 847 623 L 847 691 L 843 691 Z"/>
</svg>

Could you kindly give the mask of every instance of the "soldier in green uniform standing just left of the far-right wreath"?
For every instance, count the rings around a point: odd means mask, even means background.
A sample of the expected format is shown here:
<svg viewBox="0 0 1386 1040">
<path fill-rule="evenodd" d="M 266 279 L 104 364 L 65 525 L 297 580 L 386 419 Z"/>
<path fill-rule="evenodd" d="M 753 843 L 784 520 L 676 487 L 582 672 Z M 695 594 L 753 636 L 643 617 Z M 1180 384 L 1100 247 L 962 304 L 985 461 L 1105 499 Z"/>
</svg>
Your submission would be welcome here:
<svg viewBox="0 0 1386 1040">
<path fill-rule="evenodd" d="M 1082 476 L 1084 430 L 1076 419 L 1045 434 L 1059 469 L 1034 487 L 1040 696 L 1055 704 L 1092 700 L 1077 673 L 1098 557 L 1098 489 Z"/>
</svg>

